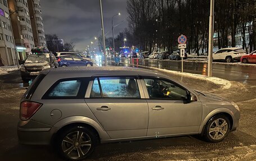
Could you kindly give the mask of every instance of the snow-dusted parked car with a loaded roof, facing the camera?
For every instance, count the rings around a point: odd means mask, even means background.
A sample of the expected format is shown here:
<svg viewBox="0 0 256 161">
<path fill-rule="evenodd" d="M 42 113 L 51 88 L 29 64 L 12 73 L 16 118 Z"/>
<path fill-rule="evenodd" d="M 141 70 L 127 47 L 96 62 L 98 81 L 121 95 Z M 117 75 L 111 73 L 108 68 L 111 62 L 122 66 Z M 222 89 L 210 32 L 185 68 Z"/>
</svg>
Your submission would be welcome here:
<svg viewBox="0 0 256 161">
<path fill-rule="evenodd" d="M 30 54 L 25 61 L 22 61 L 20 67 L 21 79 L 24 82 L 29 82 L 35 79 L 39 73 L 47 68 L 57 68 L 58 62 L 53 54 L 48 53 L 45 47 L 36 47 L 31 49 L 33 54 Z"/>
</svg>

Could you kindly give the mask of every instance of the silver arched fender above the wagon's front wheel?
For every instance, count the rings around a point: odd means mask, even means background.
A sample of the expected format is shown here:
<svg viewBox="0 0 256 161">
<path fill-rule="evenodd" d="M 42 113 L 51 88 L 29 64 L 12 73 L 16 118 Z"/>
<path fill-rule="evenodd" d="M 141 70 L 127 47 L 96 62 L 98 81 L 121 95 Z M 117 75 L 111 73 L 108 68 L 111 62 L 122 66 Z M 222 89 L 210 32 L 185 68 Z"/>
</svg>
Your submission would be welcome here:
<svg viewBox="0 0 256 161">
<path fill-rule="evenodd" d="M 199 127 L 199 131 L 203 130 L 203 127 L 206 125 L 206 123 L 211 119 L 214 115 L 218 113 L 227 113 L 230 114 L 232 117 L 232 122 L 234 122 L 234 113 L 228 109 L 228 108 L 216 108 L 212 112 L 208 113 L 207 116 L 202 120 L 201 126 Z M 203 131 L 202 131 L 203 132 Z"/>
</svg>

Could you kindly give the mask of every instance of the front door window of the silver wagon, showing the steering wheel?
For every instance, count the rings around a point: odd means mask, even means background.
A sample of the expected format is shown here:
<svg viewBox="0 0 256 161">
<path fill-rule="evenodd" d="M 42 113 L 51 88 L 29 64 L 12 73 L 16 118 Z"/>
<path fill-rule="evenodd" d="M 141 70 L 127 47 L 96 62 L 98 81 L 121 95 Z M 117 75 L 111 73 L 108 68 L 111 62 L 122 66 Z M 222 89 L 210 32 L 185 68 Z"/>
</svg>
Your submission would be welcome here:
<svg viewBox="0 0 256 161">
<path fill-rule="evenodd" d="M 188 93 L 179 85 L 162 79 L 144 79 L 150 99 L 187 100 Z"/>
</svg>

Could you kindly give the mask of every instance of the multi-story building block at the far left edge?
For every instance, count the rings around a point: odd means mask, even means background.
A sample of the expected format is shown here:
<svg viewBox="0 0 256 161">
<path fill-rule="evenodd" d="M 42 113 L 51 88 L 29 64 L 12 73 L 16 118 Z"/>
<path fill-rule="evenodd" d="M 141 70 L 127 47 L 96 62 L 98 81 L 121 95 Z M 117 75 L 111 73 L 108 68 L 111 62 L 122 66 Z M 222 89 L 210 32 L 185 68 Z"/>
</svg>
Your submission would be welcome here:
<svg viewBox="0 0 256 161">
<path fill-rule="evenodd" d="M 15 65 L 16 62 L 7 0 L 0 0 L 0 65 Z"/>
</svg>

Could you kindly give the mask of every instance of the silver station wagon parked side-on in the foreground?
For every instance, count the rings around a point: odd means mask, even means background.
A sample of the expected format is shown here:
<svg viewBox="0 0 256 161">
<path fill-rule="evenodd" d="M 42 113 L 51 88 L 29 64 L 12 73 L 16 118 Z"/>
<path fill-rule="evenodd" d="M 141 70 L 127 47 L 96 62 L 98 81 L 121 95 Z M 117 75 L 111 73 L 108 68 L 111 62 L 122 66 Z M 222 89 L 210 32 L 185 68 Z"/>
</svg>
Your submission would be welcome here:
<svg viewBox="0 0 256 161">
<path fill-rule="evenodd" d="M 239 124 L 234 102 L 167 76 L 129 67 L 44 70 L 20 104 L 21 144 L 53 144 L 83 160 L 104 142 L 201 134 L 225 139 Z"/>
</svg>

